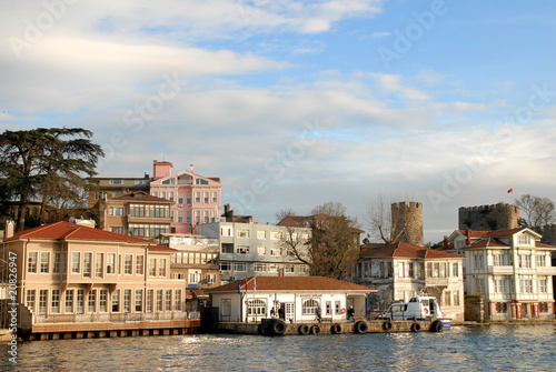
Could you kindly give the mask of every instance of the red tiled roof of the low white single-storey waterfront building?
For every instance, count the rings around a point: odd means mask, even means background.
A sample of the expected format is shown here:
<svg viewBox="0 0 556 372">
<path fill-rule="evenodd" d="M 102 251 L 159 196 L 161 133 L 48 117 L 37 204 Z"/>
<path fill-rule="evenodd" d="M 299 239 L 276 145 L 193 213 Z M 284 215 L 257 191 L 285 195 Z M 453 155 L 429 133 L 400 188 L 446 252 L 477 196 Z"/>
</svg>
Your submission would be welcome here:
<svg viewBox="0 0 556 372">
<path fill-rule="evenodd" d="M 247 291 L 356 291 L 375 292 L 376 290 L 325 277 L 251 277 L 247 279 Z M 246 280 L 240 280 L 241 291 L 246 290 Z M 228 283 L 210 290 L 211 292 L 237 292 L 238 282 Z"/>
</svg>

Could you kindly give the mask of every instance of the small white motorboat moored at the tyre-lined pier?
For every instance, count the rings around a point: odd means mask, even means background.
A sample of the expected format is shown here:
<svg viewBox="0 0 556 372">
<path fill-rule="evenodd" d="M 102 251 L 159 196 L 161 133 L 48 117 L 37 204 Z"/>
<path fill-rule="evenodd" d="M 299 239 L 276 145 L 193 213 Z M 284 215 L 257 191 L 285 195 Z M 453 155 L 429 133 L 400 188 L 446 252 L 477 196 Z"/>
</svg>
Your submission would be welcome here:
<svg viewBox="0 0 556 372">
<path fill-rule="evenodd" d="M 443 328 L 451 326 L 451 318 L 444 318 L 438 301 L 435 296 L 417 295 L 409 302 L 394 302 L 379 319 L 388 320 L 431 320 L 436 318 L 443 323 Z"/>
</svg>

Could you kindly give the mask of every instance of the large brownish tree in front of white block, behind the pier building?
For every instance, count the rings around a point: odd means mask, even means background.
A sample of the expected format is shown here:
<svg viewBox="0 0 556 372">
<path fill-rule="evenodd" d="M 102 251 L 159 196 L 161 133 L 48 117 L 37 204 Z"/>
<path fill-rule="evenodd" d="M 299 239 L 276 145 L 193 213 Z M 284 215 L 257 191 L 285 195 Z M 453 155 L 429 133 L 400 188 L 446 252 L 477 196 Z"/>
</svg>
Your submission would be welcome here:
<svg viewBox="0 0 556 372">
<path fill-rule="evenodd" d="M 287 227 L 282 245 L 288 254 L 309 265 L 311 275 L 346 277 L 359 252 L 361 232 L 356 228 L 357 222 L 346 215 L 346 208 L 341 203 L 327 202 L 316 207 L 311 215 L 296 218 L 289 214 L 289 219 L 279 223 Z M 305 227 L 310 229 L 308 238 L 299 231 Z"/>
</svg>

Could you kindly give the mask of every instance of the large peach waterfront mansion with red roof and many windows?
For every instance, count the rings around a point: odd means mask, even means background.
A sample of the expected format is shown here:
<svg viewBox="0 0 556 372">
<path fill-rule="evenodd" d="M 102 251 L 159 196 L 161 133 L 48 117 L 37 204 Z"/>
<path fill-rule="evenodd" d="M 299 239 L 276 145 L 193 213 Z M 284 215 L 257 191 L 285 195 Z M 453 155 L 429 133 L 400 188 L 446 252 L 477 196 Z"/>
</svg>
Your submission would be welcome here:
<svg viewBox="0 0 556 372">
<path fill-rule="evenodd" d="M 1 251 L 3 262 L 17 269 L 18 329 L 48 339 L 52 332 L 72 338 L 72 332 L 169 328 L 169 320 L 176 321 L 170 328 L 189 328 L 198 314 L 186 312 L 183 283 L 170 277 L 173 252 L 69 222 L 19 232 Z M 2 321 L 7 310 L 4 304 Z"/>
</svg>

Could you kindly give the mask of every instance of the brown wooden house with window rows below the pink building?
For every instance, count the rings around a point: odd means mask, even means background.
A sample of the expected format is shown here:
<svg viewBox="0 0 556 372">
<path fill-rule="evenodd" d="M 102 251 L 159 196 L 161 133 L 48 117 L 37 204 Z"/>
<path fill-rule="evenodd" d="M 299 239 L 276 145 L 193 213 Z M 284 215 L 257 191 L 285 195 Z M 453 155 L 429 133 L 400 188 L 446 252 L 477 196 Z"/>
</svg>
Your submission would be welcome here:
<svg viewBox="0 0 556 372">
<path fill-rule="evenodd" d="M 169 233 L 170 210 L 176 202 L 152 197 L 145 191 L 110 198 L 100 204 L 105 230 L 150 240 Z"/>
</svg>

